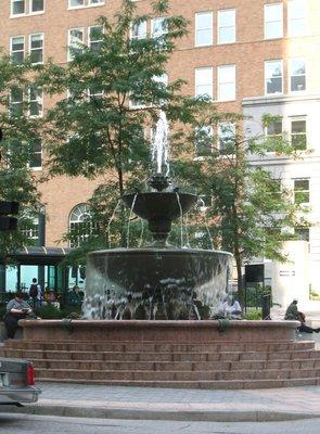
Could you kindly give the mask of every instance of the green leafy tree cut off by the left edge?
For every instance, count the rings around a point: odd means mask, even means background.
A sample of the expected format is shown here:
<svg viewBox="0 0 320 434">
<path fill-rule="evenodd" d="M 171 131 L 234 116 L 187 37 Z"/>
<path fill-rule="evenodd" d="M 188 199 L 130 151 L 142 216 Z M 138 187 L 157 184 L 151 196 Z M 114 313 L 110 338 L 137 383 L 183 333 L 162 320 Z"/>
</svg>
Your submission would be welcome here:
<svg viewBox="0 0 320 434">
<path fill-rule="evenodd" d="M 0 197 L 20 203 L 18 230 L 0 233 L 0 258 L 23 245 L 29 245 L 28 230 L 40 209 L 39 179 L 30 169 L 39 146 L 41 122 L 29 116 L 30 92 L 36 92 L 30 63 L 14 63 L 5 54 L 0 55 Z"/>
</svg>

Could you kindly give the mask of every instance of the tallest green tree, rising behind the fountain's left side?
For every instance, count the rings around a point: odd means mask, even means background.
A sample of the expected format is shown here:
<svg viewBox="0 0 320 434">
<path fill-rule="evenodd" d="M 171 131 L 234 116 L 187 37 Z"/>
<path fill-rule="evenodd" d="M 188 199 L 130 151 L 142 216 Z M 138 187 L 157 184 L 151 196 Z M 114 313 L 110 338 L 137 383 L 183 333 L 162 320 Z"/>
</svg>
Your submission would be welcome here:
<svg viewBox="0 0 320 434">
<path fill-rule="evenodd" d="M 138 16 L 136 8 L 124 0 L 112 20 L 101 16 L 91 46 L 69 47 L 67 65 L 44 65 L 39 81 L 46 92 L 61 98 L 47 118 L 51 174 L 99 180 L 89 203 L 92 228 L 102 238 L 106 233 L 104 244 L 117 201 L 148 177 L 150 131 L 159 108 L 176 122 L 189 116 L 193 105 L 180 94 L 182 80 L 166 84 L 167 62 L 187 33 L 185 20 L 170 15 L 167 0 L 154 1 L 151 14 Z M 144 23 L 152 18 L 154 34 L 146 35 Z M 125 221 L 120 205 L 114 225 L 121 245 Z"/>
</svg>

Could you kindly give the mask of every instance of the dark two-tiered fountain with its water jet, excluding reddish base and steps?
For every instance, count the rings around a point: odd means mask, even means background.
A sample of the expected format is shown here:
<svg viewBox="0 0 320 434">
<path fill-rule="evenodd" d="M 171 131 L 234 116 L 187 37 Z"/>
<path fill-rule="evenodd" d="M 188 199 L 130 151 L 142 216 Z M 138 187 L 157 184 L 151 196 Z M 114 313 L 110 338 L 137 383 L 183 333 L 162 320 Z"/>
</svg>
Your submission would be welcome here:
<svg viewBox="0 0 320 434">
<path fill-rule="evenodd" d="M 87 259 L 87 319 L 207 319 L 228 291 L 232 255 L 168 244 L 171 222 L 196 203 L 168 177 L 168 124 L 161 112 L 152 148 L 151 191 L 126 194 L 126 206 L 148 220 L 153 243 L 91 252 Z"/>
</svg>

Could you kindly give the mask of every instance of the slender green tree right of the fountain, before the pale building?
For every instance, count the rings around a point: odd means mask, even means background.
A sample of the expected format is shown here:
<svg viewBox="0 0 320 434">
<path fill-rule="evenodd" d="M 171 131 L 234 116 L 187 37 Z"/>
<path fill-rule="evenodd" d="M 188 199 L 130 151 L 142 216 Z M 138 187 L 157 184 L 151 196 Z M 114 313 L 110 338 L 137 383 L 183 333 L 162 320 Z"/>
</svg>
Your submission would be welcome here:
<svg viewBox="0 0 320 434">
<path fill-rule="evenodd" d="M 282 244 L 294 238 L 289 228 L 309 226 L 307 209 L 293 203 L 292 191 L 263 165 L 253 165 L 252 156 L 263 158 L 273 151 L 299 158 L 302 146 L 293 145 L 285 135 L 248 137 L 242 131 L 241 116 L 213 112 L 210 104 L 207 102 L 207 113 L 203 112 L 189 138 L 189 146 L 195 143 L 201 157 L 188 163 L 177 161 L 177 173 L 201 186 L 202 194 L 210 197 L 203 219 L 209 220 L 216 245 L 233 253 L 239 297 L 243 299 L 244 260 L 266 257 L 284 261 Z M 264 118 L 265 125 L 276 120 L 272 116 Z"/>
</svg>

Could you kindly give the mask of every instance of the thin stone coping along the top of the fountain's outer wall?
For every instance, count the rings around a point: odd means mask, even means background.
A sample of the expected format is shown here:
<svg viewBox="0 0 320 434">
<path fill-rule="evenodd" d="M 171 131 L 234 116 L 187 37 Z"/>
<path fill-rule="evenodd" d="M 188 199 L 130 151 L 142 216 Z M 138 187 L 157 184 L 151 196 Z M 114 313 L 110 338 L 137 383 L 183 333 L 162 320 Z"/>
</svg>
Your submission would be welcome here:
<svg viewBox="0 0 320 434">
<path fill-rule="evenodd" d="M 64 319 L 64 320 L 20 320 L 20 326 L 24 328 L 57 328 L 72 324 L 76 328 L 104 328 L 104 329 L 218 329 L 220 327 L 217 320 L 181 320 L 181 321 L 159 321 L 159 320 L 79 320 L 79 319 Z M 234 329 L 296 329 L 299 326 L 298 321 L 251 321 L 251 320 L 230 320 L 228 328 Z"/>
</svg>

